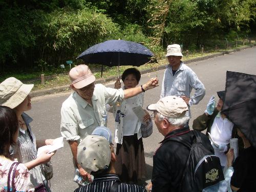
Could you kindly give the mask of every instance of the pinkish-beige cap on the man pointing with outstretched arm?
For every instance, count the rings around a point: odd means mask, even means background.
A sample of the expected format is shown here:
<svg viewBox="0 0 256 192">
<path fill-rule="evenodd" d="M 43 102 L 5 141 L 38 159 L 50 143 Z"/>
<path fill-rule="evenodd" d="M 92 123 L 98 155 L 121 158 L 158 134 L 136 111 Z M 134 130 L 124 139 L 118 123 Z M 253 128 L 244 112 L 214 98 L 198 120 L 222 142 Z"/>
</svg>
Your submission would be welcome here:
<svg viewBox="0 0 256 192">
<path fill-rule="evenodd" d="M 69 72 L 69 77 L 72 81 L 71 84 L 76 89 L 86 87 L 96 79 L 87 65 L 79 65 L 72 68 Z"/>
</svg>

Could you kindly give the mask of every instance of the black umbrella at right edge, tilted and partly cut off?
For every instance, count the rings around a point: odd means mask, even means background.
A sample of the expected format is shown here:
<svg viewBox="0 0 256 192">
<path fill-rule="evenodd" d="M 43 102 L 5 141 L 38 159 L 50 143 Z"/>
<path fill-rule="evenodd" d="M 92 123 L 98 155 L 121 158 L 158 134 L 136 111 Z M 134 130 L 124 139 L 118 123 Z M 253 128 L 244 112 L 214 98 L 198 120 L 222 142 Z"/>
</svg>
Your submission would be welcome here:
<svg viewBox="0 0 256 192">
<path fill-rule="evenodd" d="M 256 148 L 256 75 L 227 71 L 222 112 Z"/>
</svg>

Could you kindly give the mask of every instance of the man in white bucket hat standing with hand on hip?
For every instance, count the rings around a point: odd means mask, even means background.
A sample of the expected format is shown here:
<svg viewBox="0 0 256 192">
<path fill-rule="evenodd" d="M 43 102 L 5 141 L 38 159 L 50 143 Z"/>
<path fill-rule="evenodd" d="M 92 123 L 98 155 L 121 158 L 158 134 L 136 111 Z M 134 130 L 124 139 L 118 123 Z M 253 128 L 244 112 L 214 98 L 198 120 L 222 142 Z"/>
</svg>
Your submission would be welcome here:
<svg viewBox="0 0 256 192">
<path fill-rule="evenodd" d="M 160 98 L 169 95 L 181 97 L 187 103 L 187 115 L 191 117 L 190 106 L 198 104 L 203 99 L 205 95 L 204 85 L 196 73 L 181 61 L 183 55 L 180 45 L 168 45 L 165 56 L 169 64 L 164 71 Z M 192 89 L 195 89 L 195 94 L 190 97 Z"/>
</svg>

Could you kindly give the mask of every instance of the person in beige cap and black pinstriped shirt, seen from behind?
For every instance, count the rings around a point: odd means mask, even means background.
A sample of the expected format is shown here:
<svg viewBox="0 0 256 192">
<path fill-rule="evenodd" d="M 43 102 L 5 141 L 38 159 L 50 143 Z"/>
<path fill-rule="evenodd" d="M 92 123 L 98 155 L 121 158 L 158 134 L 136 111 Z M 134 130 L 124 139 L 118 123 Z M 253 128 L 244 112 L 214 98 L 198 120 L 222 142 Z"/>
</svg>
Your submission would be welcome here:
<svg viewBox="0 0 256 192">
<path fill-rule="evenodd" d="M 77 161 L 87 173 L 94 176 L 93 182 L 74 192 L 147 192 L 144 186 L 121 183 L 115 172 L 116 156 L 111 131 L 97 127 L 77 147 Z"/>
</svg>

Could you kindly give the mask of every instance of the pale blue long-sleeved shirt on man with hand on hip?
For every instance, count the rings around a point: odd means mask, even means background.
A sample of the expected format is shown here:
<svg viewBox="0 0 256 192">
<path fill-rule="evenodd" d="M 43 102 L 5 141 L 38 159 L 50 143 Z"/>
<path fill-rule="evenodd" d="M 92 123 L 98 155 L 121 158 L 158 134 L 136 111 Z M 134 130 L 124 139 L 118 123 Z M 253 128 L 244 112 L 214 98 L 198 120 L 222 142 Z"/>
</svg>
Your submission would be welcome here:
<svg viewBox="0 0 256 192">
<path fill-rule="evenodd" d="M 195 94 L 190 97 L 192 89 L 195 89 Z M 190 98 L 189 106 L 191 106 L 198 104 L 199 101 L 203 99 L 205 88 L 203 83 L 198 79 L 196 73 L 181 61 L 180 67 L 174 75 L 172 67 L 169 65 L 164 71 L 160 98 L 169 95 L 177 97 L 186 96 Z M 189 117 L 191 117 L 189 106 Z"/>
</svg>

